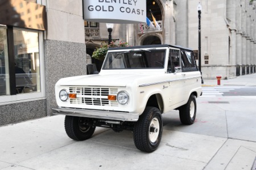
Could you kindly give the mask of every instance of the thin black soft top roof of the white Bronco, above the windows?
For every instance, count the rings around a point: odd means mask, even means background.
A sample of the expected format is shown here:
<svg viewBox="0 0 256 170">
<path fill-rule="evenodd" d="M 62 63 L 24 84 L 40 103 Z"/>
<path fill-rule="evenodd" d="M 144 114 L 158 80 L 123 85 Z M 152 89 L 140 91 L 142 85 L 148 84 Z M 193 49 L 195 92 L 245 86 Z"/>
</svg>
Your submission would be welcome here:
<svg viewBox="0 0 256 170">
<path fill-rule="evenodd" d="M 169 44 L 155 44 L 155 45 L 139 45 L 139 46 L 125 46 L 125 47 L 114 47 L 114 48 L 109 48 L 109 50 L 120 50 L 120 49 L 134 49 L 134 48 L 159 48 L 159 47 L 173 47 L 173 48 L 179 48 L 179 49 L 185 49 L 185 50 L 191 50 L 189 48 L 184 48 L 179 45 L 169 45 Z"/>
</svg>

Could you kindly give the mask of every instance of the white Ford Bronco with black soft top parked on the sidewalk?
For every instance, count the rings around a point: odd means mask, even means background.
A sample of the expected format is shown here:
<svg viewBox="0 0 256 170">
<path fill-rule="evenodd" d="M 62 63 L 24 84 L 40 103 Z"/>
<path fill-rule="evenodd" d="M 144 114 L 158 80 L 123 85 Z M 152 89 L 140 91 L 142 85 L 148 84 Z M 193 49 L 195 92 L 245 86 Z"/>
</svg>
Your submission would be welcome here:
<svg viewBox="0 0 256 170">
<path fill-rule="evenodd" d="M 109 48 L 99 74 L 60 79 L 58 108 L 68 137 L 82 141 L 96 126 L 133 131 L 135 146 L 156 150 L 162 138 L 162 113 L 179 110 L 182 124 L 196 117 L 201 74 L 193 51 L 172 45 Z"/>
</svg>

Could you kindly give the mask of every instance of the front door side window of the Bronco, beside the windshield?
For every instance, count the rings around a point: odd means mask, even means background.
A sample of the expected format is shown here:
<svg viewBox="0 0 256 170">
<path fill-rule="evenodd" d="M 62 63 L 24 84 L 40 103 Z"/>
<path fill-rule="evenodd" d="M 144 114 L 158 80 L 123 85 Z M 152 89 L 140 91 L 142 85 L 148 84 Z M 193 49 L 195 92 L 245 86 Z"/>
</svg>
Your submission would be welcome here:
<svg viewBox="0 0 256 170">
<path fill-rule="evenodd" d="M 170 49 L 168 57 L 167 73 L 175 73 L 180 70 L 180 50 Z"/>
</svg>

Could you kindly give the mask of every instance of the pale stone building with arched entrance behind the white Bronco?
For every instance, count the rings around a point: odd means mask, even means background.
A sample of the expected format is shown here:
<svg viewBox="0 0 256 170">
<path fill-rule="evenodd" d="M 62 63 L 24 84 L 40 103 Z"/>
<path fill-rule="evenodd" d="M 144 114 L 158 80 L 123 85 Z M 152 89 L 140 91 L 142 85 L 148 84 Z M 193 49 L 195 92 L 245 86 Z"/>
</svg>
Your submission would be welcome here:
<svg viewBox="0 0 256 170">
<path fill-rule="evenodd" d="M 139 24 L 115 24 L 113 39 L 125 39 L 130 45 L 172 44 L 198 50 L 201 11 L 201 70 L 204 79 L 217 75 L 229 79 L 255 73 L 255 2 L 249 0 L 147 0 L 160 30 Z M 105 23 L 98 23 L 98 37 L 85 35 L 87 51 L 108 39 Z M 89 29 L 89 28 L 85 28 Z M 86 32 L 86 31 L 85 31 Z M 94 47 L 93 47 L 94 46 Z M 91 55 L 92 53 L 90 53 Z M 198 62 L 197 62 L 198 63 Z"/>
</svg>

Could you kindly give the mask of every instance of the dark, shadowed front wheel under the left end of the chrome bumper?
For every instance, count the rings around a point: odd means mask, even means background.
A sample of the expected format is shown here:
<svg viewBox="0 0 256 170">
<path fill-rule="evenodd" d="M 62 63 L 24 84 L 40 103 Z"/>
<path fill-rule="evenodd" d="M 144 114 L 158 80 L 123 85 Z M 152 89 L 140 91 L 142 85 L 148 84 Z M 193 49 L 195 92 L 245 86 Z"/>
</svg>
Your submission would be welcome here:
<svg viewBox="0 0 256 170">
<path fill-rule="evenodd" d="M 89 126 L 90 118 L 65 116 L 65 131 L 69 138 L 84 141 L 92 137 L 95 126 Z"/>
</svg>

